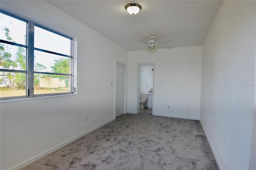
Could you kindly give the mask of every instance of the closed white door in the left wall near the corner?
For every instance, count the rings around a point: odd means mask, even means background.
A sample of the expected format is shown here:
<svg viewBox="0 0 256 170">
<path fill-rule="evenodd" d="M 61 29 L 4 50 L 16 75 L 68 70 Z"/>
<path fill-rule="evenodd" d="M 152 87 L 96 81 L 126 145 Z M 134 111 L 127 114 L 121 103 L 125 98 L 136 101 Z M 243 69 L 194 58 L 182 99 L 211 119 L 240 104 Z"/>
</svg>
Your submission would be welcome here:
<svg viewBox="0 0 256 170">
<path fill-rule="evenodd" d="M 124 65 L 116 63 L 115 117 L 124 114 Z"/>
</svg>

